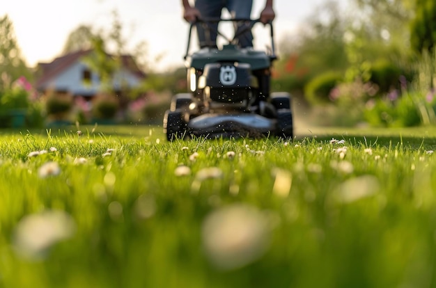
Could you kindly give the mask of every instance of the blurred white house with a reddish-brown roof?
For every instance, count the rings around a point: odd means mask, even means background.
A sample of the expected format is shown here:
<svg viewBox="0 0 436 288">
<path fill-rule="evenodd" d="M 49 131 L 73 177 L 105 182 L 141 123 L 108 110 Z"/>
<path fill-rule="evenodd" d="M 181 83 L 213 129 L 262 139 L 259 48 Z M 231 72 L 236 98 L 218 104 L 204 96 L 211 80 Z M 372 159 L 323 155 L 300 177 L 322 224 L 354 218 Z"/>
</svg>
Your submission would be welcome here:
<svg viewBox="0 0 436 288">
<path fill-rule="evenodd" d="M 50 90 L 91 99 L 101 88 L 99 75 L 86 64 L 86 57 L 92 53 L 92 49 L 80 50 L 55 58 L 51 63 L 38 63 L 36 89 L 40 93 Z M 137 87 L 145 77 L 134 58 L 123 55 L 120 69 L 112 77 L 114 90 L 120 90 L 121 83 L 127 88 Z"/>
</svg>

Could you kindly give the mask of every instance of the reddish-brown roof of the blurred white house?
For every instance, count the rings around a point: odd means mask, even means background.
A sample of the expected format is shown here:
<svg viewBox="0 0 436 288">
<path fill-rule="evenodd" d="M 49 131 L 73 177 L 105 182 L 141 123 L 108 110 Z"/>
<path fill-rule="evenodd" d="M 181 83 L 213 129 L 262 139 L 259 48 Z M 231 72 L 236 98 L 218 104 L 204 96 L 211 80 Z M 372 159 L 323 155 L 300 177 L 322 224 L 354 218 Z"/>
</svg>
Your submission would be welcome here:
<svg viewBox="0 0 436 288">
<path fill-rule="evenodd" d="M 36 87 L 40 88 L 44 86 L 47 81 L 61 74 L 61 72 L 79 61 L 81 57 L 90 54 L 92 51 L 92 49 L 79 50 L 57 57 L 51 63 L 38 63 L 39 77 L 36 81 Z M 108 56 L 110 55 L 108 54 Z M 134 61 L 134 58 L 131 55 L 121 55 L 120 59 L 121 65 L 130 72 L 132 72 L 134 75 L 139 78 L 146 77 L 146 74 L 141 71 L 141 69 L 139 69 L 137 63 Z"/>
</svg>

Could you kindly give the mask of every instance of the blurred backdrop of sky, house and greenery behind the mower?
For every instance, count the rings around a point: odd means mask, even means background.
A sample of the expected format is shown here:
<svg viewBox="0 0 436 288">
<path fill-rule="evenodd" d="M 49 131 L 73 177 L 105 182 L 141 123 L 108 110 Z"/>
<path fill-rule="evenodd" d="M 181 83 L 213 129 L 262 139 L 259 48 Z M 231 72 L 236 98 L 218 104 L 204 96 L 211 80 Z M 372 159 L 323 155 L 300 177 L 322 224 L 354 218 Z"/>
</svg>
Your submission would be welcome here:
<svg viewBox="0 0 436 288">
<path fill-rule="evenodd" d="M 264 5 L 255 0 L 252 17 Z M 277 0 L 274 10 L 272 89 L 293 95 L 297 125 L 436 122 L 433 1 Z M 21 0 L 0 13 L 3 126 L 160 124 L 186 91 L 180 1 Z M 267 29 L 254 35 L 265 49 Z"/>
</svg>

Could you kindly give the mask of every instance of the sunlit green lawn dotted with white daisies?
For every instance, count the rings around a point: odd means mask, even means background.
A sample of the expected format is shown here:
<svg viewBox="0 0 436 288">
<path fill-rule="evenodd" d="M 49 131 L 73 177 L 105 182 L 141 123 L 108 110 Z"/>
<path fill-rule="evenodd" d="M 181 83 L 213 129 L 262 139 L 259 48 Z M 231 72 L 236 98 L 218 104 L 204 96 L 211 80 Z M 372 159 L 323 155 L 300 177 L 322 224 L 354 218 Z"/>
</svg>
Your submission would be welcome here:
<svg viewBox="0 0 436 288">
<path fill-rule="evenodd" d="M 0 287 L 436 287 L 436 129 L 80 129 L 1 132 Z"/>
</svg>

